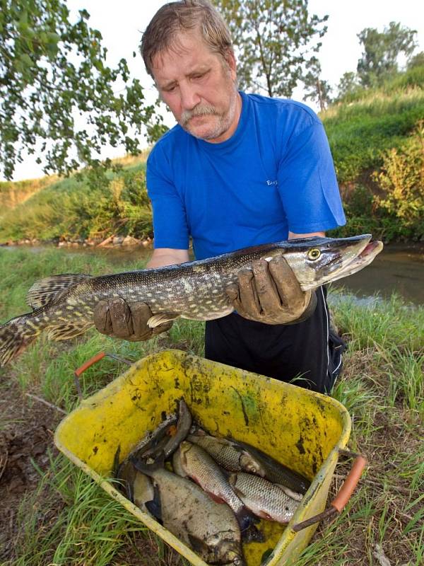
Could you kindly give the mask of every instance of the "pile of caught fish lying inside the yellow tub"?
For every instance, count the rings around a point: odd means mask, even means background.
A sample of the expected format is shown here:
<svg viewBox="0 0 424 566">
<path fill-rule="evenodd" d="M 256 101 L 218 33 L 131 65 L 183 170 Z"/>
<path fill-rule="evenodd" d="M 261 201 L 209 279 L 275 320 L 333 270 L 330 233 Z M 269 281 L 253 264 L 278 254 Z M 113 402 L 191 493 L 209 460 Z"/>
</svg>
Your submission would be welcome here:
<svg viewBox="0 0 424 566">
<path fill-rule="evenodd" d="M 310 482 L 261 450 L 213 437 L 184 401 L 119 463 L 128 499 L 210 565 L 244 566 L 242 542 L 264 541 L 259 519 L 287 524 Z"/>
</svg>

